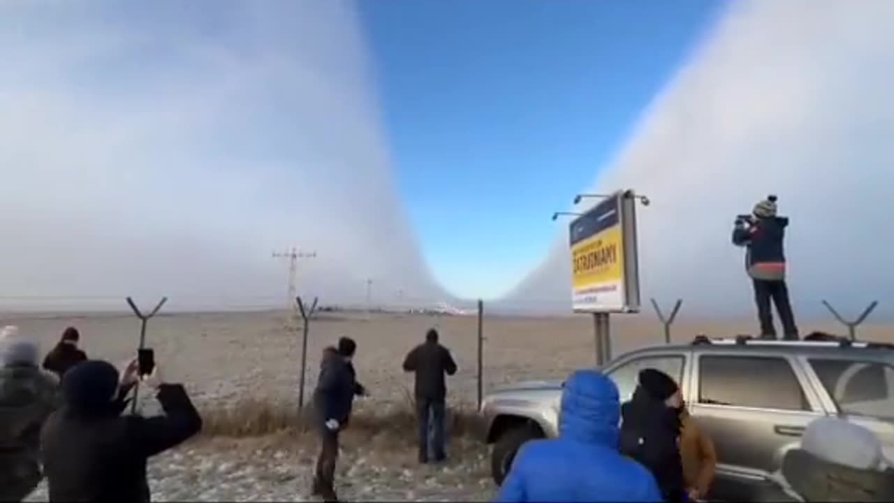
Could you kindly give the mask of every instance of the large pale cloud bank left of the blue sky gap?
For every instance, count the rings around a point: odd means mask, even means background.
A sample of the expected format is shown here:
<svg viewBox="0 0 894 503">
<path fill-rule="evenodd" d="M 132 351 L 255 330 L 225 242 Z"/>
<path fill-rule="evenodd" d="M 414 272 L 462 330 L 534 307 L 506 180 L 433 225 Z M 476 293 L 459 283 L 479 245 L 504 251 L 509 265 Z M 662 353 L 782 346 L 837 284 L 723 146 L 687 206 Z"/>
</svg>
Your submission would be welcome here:
<svg viewBox="0 0 894 503">
<path fill-rule="evenodd" d="M 0 60 L 0 294 L 443 298 L 349 4 L 7 2 Z"/>
</svg>

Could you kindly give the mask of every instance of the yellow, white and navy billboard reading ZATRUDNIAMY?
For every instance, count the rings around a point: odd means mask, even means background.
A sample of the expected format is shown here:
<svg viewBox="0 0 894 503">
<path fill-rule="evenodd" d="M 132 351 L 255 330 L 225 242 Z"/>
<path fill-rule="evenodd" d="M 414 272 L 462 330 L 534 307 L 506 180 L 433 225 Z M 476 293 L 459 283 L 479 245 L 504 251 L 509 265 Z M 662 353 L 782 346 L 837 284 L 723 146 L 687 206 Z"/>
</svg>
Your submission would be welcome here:
<svg viewBox="0 0 894 503">
<path fill-rule="evenodd" d="M 569 226 L 571 303 L 577 312 L 639 311 L 636 199 L 611 194 Z"/>
</svg>

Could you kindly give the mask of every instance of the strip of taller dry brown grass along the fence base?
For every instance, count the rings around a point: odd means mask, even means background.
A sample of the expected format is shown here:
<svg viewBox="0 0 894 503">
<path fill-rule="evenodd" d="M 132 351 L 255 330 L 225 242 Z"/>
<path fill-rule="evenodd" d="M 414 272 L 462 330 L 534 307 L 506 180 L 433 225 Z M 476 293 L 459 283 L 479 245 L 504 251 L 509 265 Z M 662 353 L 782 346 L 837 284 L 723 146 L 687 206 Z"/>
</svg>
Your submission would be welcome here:
<svg viewBox="0 0 894 503">
<path fill-rule="evenodd" d="M 312 406 L 299 410 L 297 404 L 288 402 L 243 399 L 220 408 L 205 406 L 201 414 L 205 437 L 241 439 L 282 433 L 303 434 L 316 428 Z M 474 407 L 453 406 L 447 411 L 444 429 L 451 437 L 468 437 L 472 434 L 475 417 Z M 350 418 L 348 431 L 403 445 L 415 441 L 415 435 L 408 435 L 408 432 L 416 431 L 416 425 L 413 402 L 408 396 L 401 406 L 359 408 Z"/>
</svg>

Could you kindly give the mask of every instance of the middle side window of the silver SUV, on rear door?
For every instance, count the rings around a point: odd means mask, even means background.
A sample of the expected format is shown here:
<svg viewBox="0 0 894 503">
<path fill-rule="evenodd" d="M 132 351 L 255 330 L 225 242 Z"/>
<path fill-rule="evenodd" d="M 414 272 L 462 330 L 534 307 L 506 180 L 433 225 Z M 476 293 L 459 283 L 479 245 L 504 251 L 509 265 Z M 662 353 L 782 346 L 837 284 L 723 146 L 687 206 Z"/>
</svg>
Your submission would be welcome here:
<svg viewBox="0 0 894 503">
<path fill-rule="evenodd" d="M 700 404 L 810 410 L 804 390 L 784 358 L 702 356 L 698 366 Z"/>
</svg>

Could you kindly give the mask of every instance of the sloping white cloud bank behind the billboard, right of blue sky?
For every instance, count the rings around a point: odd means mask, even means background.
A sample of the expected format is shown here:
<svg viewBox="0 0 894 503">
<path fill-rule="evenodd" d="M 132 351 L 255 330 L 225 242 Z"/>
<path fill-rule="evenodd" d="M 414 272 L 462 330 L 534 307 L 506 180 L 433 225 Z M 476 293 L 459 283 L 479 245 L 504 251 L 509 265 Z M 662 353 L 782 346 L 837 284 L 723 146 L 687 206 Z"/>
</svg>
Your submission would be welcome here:
<svg viewBox="0 0 894 503">
<path fill-rule="evenodd" d="M 734 3 L 595 183 L 653 200 L 638 210 L 644 303 L 753 312 L 730 231 L 775 193 L 791 218 L 796 315 L 822 310 L 822 298 L 856 312 L 878 298 L 891 312 L 892 25 L 886 0 Z M 561 234 L 507 303 L 569 309 Z"/>
</svg>

